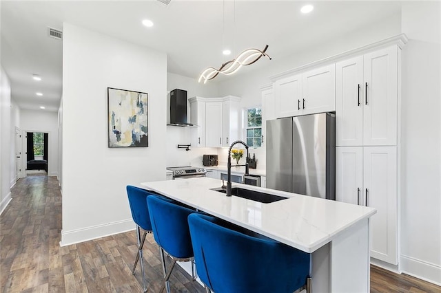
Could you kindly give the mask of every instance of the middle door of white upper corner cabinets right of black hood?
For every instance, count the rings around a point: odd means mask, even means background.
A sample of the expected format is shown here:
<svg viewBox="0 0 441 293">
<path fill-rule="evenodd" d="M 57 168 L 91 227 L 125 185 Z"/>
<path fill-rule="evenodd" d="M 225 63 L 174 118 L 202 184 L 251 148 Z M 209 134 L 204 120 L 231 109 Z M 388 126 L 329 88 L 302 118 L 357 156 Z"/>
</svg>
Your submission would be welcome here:
<svg viewBox="0 0 441 293">
<path fill-rule="evenodd" d="M 205 103 L 205 144 L 222 146 L 222 102 Z"/>
</svg>

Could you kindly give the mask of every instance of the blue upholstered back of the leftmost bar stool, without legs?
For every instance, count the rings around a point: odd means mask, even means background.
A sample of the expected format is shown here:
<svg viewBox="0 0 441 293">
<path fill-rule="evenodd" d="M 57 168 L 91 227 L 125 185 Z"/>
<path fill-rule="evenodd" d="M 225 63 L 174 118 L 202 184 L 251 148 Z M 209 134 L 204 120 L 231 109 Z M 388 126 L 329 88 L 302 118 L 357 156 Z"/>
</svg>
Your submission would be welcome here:
<svg viewBox="0 0 441 293">
<path fill-rule="evenodd" d="M 126 189 L 133 221 L 143 230 L 151 231 L 152 224 L 150 224 L 150 215 L 147 208 L 147 196 L 152 195 L 152 193 L 131 185 L 127 185 Z"/>
</svg>

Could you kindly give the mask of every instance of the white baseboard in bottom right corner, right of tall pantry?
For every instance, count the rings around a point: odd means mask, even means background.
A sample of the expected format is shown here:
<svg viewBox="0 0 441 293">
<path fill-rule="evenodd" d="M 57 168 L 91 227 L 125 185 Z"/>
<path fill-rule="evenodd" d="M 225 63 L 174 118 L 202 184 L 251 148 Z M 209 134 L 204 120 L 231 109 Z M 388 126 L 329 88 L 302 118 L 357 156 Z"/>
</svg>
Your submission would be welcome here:
<svg viewBox="0 0 441 293">
<path fill-rule="evenodd" d="M 401 270 L 404 274 L 441 286 L 441 265 L 428 263 L 413 257 L 401 255 Z"/>
</svg>

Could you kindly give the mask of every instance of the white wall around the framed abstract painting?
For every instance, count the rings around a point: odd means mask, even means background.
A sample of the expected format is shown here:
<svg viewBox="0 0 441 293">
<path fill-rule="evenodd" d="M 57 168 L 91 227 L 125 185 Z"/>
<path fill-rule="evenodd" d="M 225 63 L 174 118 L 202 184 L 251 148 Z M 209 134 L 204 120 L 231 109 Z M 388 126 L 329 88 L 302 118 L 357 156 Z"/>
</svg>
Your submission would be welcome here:
<svg viewBox="0 0 441 293">
<path fill-rule="evenodd" d="M 148 94 L 147 148 L 107 147 L 107 87 Z M 61 245 L 134 228 L 125 186 L 165 180 L 167 56 L 63 26 Z"/>
</svg>

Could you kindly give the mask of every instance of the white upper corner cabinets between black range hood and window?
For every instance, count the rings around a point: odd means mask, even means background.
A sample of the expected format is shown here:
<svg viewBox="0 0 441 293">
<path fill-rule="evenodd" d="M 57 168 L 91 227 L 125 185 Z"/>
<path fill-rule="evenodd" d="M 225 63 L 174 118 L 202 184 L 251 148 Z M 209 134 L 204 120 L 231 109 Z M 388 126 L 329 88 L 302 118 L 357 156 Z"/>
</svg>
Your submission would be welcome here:
<svg viewBox="0 0 441 293">
<path fill-rule="evenodd" d="M 240 138 L 240 98 L 193 97 L 190 102 L 190 121 L 197 124 L 192 145 L 227 147 Z"/>
</svg>

